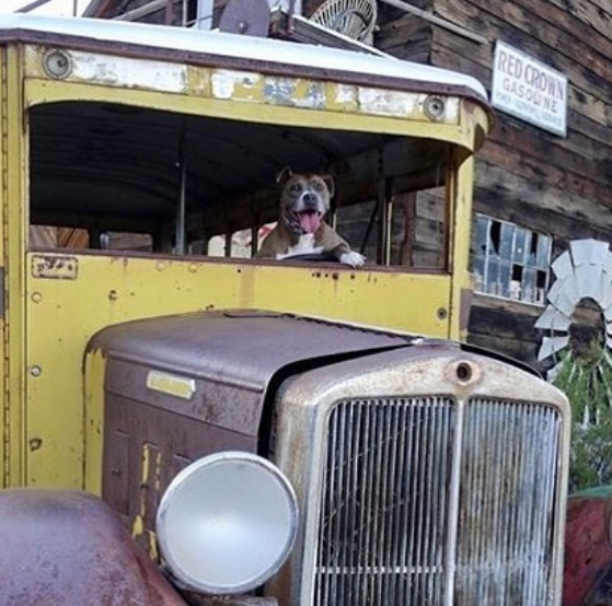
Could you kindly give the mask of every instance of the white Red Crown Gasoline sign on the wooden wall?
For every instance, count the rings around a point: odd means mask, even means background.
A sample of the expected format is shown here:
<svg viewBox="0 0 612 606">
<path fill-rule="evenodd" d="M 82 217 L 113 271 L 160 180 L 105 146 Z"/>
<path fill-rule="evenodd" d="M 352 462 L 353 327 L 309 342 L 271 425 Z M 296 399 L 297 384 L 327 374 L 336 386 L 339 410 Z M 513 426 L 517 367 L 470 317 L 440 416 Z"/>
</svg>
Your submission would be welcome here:
<svg viewBox="0 0 612 606">
<path fill-rule="evenodd" d="M 567 78 L 500 40 L 495 45 L 492 104 L 555 135 L 567 133 Z"/>
</svg>

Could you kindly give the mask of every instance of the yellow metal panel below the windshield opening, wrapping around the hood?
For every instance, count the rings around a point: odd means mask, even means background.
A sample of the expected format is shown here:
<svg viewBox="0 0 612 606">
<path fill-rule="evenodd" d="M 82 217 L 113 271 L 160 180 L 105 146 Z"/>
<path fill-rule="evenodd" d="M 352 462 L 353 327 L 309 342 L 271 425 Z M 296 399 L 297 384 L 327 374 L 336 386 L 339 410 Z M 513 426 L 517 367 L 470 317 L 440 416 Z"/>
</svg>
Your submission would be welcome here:
<svg viewBox="0 0 612 606">
<path fill-rule="evenodd" d="M 54 256 L 61 255 L 46 258 Z M 109 324 L 257 307 L 448 336 L 448 276 L 81 255 L 72 257 L 71 277 L 35 278 L 33 273 L 49 276 L 39 270 L 41 257 L 28 255 L 28 267 L 38 267 L 30 271 L 27 283 L 27 438 L 36 446 L 28 452 L 30 485 L 83 483 L 84 432 L 95 442 L 102 430 L 95 418 L 102 409 L 97 396 L 89 403 L 93 412 L 85 427 L 83 354 L 92 335 Z M 101 388 L 103 363 L 90 364 Z M 100 454 L 88 454 L 100 463 Z M 88 471 L 88 486 L 100 486 L 95 469 Z"/>
</svg>

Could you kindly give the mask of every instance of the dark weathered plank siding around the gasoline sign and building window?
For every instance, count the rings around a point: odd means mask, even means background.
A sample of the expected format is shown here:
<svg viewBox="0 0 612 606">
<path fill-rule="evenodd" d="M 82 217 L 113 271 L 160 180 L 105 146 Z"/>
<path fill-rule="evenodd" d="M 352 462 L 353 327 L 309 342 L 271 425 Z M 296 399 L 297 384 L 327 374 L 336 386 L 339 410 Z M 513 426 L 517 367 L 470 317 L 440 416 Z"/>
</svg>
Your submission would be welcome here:
<svg viewBox="0 0 612 606">
<path fill-rule="evenodd" d="M 573 240 L 610 243 L 612 4 L 604 0 L 413 0 L 413 4 L 484 36 L 487 43 L 383 9 L 377 46 L 402 58 L 470 73 L 490 89 L 494 45 L 499 39 L 568 79 L 566 138 L 496 113 L 492 137 L 476 163 L 475 210 L 550 233 L 553 259 Z M 476 295 L 469 340 L 538 366 L 542 335 L 534 323 L 542 311 Z"/>
</svg>

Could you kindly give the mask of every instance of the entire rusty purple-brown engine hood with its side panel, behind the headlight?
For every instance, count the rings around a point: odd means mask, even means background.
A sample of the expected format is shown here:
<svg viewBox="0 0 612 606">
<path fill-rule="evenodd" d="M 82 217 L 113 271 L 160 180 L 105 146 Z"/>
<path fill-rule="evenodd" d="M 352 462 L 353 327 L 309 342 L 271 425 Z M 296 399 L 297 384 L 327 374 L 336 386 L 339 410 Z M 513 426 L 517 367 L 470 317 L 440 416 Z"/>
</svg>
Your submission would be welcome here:
<svg viewBox="0 0 612 606">
<path fill-rule="evenodd" d="M 257 452 L 268 431 L 261 427 L 270 383 L 411 343 L 409 336 L 256 311 L 105 328 L 89 346 L 107 358 L 104 500 L 154 552 L 158 506 L 181 469 L 223 450 Z"/>
</svg>

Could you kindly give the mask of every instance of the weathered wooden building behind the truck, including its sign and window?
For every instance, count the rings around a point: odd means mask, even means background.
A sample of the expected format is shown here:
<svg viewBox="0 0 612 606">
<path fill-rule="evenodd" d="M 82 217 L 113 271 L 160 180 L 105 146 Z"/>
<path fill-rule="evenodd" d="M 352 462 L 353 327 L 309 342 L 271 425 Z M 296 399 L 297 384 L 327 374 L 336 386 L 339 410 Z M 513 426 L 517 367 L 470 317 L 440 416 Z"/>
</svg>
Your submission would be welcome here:
<svg viewBox="0 0 612 606">
<path fill-rule="evenodd" d="M 239 5 L 256 12 L 263 1 Z M 325 0 L 334 1 L 340 0 Z M 363 11 L 360 0 L 342 1 L 345 9 Z M 321 5 L 321 0 L 287 0 L 286 8 L 309 18 Z M 470 73 L 492 93 L 497 78 L 501 106 L 476 164 L 469 339 L 544 369 L 566 348 L 576 321 L 604 337 L 612 305 L 610 2 L 372 0 L 370 5 L 365 43 Z M 93 0 L 84 15 L 215 27 L 222 9 L 218 0 Z M 539 106 L 550 109 L 553 121 L 538 117 Z M 553 265 L 555 259 L 562 260 Z M 561 292 L 551 291 L 555 281 Z"/>
</svg>

